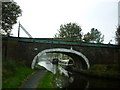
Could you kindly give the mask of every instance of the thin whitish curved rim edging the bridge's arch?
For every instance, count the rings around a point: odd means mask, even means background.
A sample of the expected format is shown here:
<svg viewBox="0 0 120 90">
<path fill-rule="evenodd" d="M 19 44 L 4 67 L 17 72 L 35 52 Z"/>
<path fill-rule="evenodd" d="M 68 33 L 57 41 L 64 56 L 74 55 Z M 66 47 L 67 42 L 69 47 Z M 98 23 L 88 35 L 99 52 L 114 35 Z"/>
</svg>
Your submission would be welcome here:
<svg viewBox="0 0 120 90">
<path fill-rule="evenodd" d="M 89 67 L 90 67 L 88 59 L 81 52 L 78 52 L 78 51 L 75 51 L 72 49 L 53 48 L 53 49 L 45 49 L 45 50 L 41 51 L 40 53 L 38 53 L 32 61 L 32 64 L 31 64 L 32 69 L 34 69 L 36 62 L 40 61 L 39 57 L 41 57 L 44 53 L 63 53 L 63 54 L 66 54 L 66 55 L 72 57 L 73 59 L 82 60 L 82 63 L 84 63 L 84 65 L 86 65 L 87 69 L 89 69 Z M 38 61 L 36 61 L 36 60 L 38 60 Z"/>
</svg>

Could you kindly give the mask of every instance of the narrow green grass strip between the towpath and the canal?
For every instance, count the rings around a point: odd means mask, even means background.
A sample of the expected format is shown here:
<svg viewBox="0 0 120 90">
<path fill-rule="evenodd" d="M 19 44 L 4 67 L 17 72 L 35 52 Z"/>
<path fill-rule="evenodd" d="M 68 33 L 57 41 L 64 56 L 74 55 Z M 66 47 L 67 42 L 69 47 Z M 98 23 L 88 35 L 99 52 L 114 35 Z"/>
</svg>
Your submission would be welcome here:
<svg viewBox="0 0 120 90">
<path fill-rule="evenodd" d="M 57 88 L 54 83 L 54 75 L 51 72 L 46 72 L 44 78 L 39 82 L 38 88 Z"/>
</svg>

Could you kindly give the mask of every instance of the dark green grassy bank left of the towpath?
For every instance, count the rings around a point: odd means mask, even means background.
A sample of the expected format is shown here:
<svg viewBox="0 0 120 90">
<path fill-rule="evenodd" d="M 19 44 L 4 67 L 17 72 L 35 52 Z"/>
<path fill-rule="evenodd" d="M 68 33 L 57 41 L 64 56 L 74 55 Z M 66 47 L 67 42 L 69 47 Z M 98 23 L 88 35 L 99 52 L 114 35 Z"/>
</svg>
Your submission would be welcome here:
<svg viewBox="0 0 120 90">
<path fill-rule="evenodd" d="M 24 62 L 7 60 L 2 65 L 2 88 L 19 88 L 35 72 Z"/>
</svg>

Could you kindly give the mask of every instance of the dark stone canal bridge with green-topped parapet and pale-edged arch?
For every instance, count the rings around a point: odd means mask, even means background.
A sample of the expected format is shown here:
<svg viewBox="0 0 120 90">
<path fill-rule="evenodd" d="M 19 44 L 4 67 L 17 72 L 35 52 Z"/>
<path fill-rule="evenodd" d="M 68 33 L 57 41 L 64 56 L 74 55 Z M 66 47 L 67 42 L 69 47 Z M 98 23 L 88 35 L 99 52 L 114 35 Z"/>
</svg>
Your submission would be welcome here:
<svg viewBox="0 0 120 90">
<path fill-rule="evenodd" d="M 53 38 L 2 38 L 3 60 L 25 61 L 31 65 L 40 52 L 57 52 L 69 55 L 76 66 L 89 68 L 93 64 L 120 63 L 120 46 L 111 44 L 83 43 Z M 79 61 L 81 63 L 79 63 Z"/>
</svg>

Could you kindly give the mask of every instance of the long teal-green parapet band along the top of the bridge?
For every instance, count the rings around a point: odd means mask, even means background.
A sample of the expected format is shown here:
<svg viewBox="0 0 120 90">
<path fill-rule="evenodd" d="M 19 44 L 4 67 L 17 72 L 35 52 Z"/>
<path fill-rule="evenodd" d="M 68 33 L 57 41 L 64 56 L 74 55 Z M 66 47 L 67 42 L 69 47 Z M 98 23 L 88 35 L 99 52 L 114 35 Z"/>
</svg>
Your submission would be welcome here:
<svg viewBox="0 0 120 90">
<path fill-rule="evenodd" d="M 67 44 L 67 45 L 80 45 L 80 46 L 90 46 L 90 47 L 111 47 L 111 48 L 120 48 L 118 45 L 113 44 L 101 44 L 101 43 L 86 43 L 81 41 L 70 41 L 62 40 L 56 38 L 18 38 L 18 37 L 3 37 L 3 40 L 16 40 L 23 42 L 37 42 L 37 43 L 50 43 L 50 44 Z"/>
</svg>

